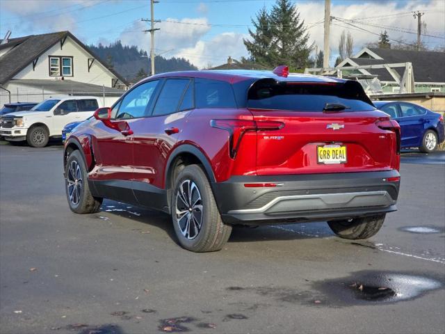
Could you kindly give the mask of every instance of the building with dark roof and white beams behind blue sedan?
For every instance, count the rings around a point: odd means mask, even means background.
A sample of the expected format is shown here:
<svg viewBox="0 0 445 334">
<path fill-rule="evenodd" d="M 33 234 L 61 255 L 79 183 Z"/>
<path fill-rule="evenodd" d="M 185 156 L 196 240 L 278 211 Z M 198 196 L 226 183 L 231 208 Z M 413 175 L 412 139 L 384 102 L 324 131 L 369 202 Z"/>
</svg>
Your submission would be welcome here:
<svg viewBox="0 0 445 334">
<path fill-rule="evenodd" d="M 411 65 L 405 67 L 407 63 L 411 63 Z M 354 74 L 377 76 L 383 93 L 401 93 L 402 90 L 396 78 L 403 78 L 405 69 L 411 67 L 414 79 L 413 93 L 445 93 L 445 52 L 364 47 L 354 56 L 339 63 L 335 69 L 385 64 L 399 64 L 399 66 L 391 67 L 391 70 L 383 66 L 380 66 L 383 68 L 346 70 L 343 71 L 343 74 L 348 74 L 348 76 Z M 396 73 L 392 72 L 393 70 Z"/>
</svg>

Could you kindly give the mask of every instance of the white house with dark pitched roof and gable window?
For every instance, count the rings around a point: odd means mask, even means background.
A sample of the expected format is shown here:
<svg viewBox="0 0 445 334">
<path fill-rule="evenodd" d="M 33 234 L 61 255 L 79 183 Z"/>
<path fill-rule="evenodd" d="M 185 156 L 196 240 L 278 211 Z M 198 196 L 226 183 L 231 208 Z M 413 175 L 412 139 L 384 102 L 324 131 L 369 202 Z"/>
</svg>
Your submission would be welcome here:
<svg viewBox="0 0 445 334">
<path fill-rule="evenodd" d="M 111 105 L 127 82 L 70 31 L 0 42 L 0 106 L 53 95 L 94 95 Z"/>
</svg>

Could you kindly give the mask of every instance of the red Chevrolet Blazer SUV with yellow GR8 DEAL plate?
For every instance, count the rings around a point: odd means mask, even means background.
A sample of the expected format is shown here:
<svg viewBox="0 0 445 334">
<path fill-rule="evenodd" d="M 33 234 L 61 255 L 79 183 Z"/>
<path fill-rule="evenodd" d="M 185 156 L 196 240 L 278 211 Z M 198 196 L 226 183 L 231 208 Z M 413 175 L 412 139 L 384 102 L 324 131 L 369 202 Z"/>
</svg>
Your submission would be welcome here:
<svg viewBox="0 0 445 334">
<path fill-rule="evenodd" d="M 171 214 L 188 250 L 219 250 L 232 225 L 327 221 L 364 239 L 396 210 L 400 127 L 357 81 L 273 72 L 149 77 L 65 143 L 67 200 Z"/>
</svg>

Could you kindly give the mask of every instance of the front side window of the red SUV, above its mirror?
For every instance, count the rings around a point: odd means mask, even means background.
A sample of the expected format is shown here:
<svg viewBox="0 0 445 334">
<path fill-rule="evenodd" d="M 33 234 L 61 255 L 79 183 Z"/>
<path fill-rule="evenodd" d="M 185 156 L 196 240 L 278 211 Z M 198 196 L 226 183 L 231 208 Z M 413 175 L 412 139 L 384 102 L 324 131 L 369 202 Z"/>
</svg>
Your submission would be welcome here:
<svg viewBox="0 0 445 334">
<path fill-rule="evenodd" d="M 126 119 L 147 116 L 158 83 L 159 80 L 149 81 L 130 90 L 122 99 L 115 118 Z"/>
</svg>

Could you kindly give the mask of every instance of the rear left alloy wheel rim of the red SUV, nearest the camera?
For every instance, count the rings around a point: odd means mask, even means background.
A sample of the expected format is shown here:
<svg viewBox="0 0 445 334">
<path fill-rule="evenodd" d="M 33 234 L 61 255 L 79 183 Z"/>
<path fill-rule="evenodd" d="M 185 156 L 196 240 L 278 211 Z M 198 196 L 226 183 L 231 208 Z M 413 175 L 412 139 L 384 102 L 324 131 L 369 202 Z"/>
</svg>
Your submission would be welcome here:
<svg viewBox="0 0 445 334">
<path fill-rule="evenodd" d="M 193 240 L 202 228 L 202 198 L 200 189 L 192 180 L 184 180 L 176 194 L 176 221 L 182 235 Z"/>
</svg>

